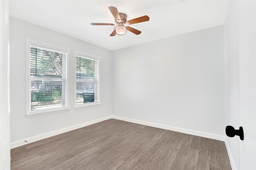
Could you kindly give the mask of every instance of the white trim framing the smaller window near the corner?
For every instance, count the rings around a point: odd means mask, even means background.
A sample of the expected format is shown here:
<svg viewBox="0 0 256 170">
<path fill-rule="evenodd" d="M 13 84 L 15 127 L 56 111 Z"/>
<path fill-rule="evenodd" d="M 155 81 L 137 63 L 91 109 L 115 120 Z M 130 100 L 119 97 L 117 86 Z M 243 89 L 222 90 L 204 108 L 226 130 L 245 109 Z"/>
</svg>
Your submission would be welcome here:
<svg viewBox="0 0 256 170">
<path fill-rule="evenodd" d="M 84 53 L 84 52 L 80 52 L 80 51 L 75 51 L 75 60 L 76 60 L 76 57 L 77 56 L 82 56 L 82 57 L 87 57 L 87 58 L 91 58 L 91 59 L 96 59 L 99 61 L 99 101 L 98 102 L 90 102 L 90 103 L 86 103 L 86 104 L 76 104 L 76 97 L 75 97 L 75 100 L 74 100 L 74 103 L 75 103 L 75 110 L 76 109 L 83 109 L 83 108 L 87 108 L 87 107 L 95 107 L 95 106 L 100 106 L 101 103 L 100 103 L 100 57 L 99 56 L 96 56 L 96 55 L 91 55 L 91 54 L 88 54 L 88 53 Z M 75 75 L 74 77 L 76 78 L 76 66 L 75 66 Z M 75 96 L 76 96 L 76 81 L 75 81 Z"/>
</svg>

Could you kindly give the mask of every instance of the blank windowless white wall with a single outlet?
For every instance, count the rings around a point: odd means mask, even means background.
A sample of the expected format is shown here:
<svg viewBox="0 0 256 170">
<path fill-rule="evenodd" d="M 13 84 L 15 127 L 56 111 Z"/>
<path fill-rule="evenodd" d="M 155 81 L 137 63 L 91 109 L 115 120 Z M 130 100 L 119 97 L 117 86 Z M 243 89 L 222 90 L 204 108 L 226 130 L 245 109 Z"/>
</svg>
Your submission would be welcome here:
<svg viewBox="0 0 256 170">
<path fill-rule="evenodd" d="M 112 74 L 114 115 L 224 135 L 223 26 L 114 51 Z"/>
</svg>

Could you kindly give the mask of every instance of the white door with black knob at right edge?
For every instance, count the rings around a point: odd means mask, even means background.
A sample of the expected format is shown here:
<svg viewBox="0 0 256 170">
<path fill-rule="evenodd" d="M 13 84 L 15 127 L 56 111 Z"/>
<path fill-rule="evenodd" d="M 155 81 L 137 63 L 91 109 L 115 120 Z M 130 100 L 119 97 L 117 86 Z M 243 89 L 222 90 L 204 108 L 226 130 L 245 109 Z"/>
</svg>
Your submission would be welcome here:
<svg viewBox="0 0 256 170">
<path fill-rule="evenodd" d="M 256 3 L 239 1 L 240 169 L 256 169 Z M 237 167 L 238 168 L 238 167 Z"/>
</svg>

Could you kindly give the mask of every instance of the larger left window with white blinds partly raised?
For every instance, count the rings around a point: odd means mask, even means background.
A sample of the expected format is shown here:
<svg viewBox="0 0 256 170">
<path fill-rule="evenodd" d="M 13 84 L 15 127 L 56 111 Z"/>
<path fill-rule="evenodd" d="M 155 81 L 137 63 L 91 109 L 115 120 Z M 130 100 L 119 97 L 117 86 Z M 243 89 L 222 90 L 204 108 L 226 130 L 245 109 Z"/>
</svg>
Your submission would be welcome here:
<svg viewBox="0 0 256 170">
<path fill-rule="evenodd" d="M 68 109 L 68 49 L 28 40 L 29 110 L 27 117 Z"/>
</svg>

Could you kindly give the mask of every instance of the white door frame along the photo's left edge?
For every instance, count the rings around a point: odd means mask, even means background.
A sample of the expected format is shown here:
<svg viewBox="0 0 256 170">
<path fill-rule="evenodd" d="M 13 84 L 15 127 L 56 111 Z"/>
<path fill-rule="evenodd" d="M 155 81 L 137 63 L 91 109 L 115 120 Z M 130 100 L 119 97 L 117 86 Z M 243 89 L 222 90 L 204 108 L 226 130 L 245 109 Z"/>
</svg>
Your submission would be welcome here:
<svg viewBox="0 0 256 170">
<path fill-rule="evenodd" d="M 0 169 L 10 169 L 9 2 L 0 0 Z"/>
</svg>

